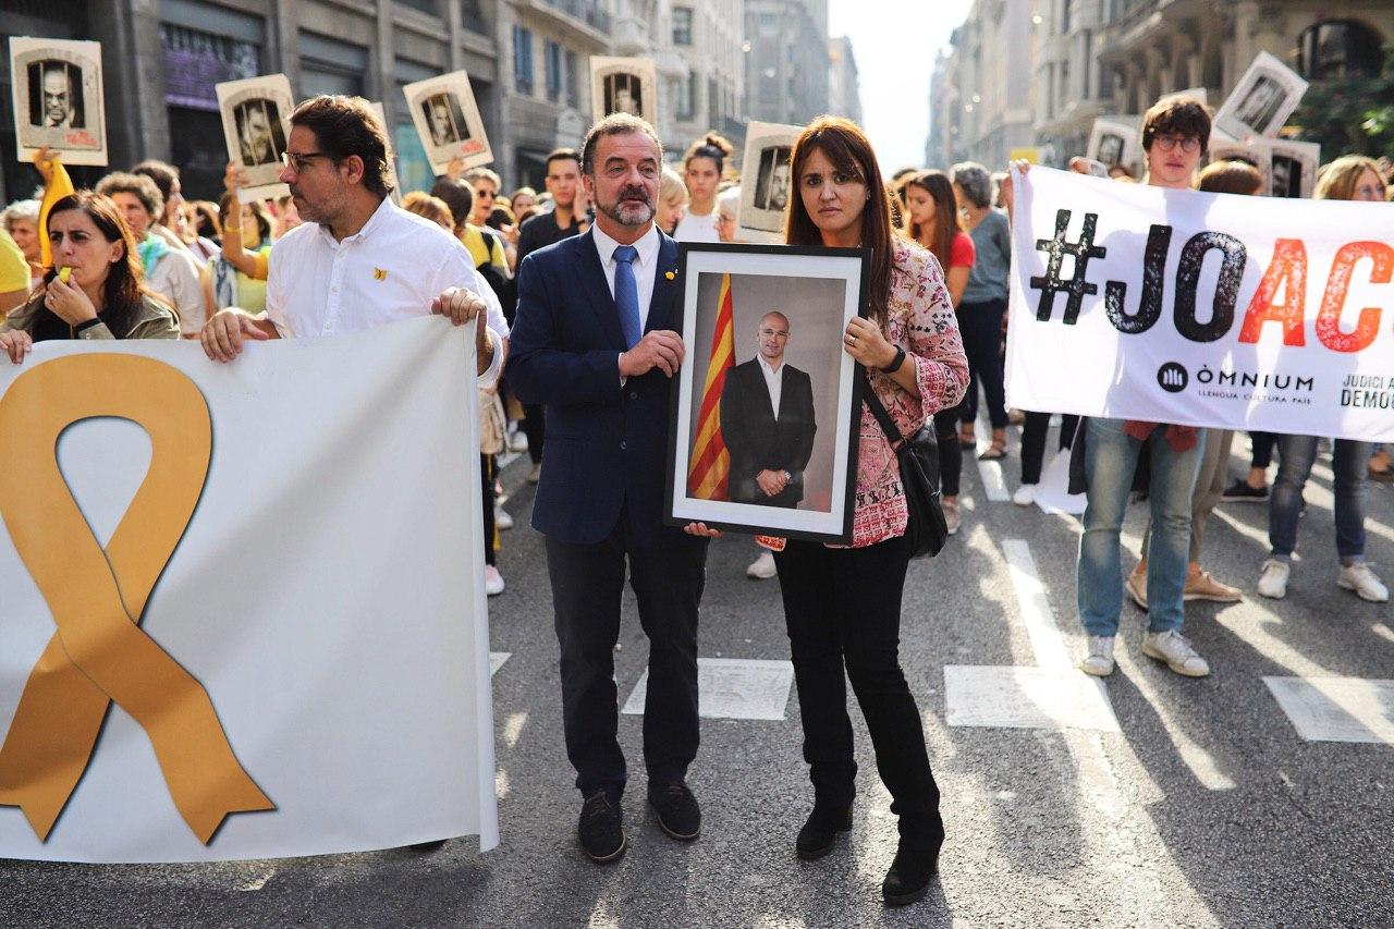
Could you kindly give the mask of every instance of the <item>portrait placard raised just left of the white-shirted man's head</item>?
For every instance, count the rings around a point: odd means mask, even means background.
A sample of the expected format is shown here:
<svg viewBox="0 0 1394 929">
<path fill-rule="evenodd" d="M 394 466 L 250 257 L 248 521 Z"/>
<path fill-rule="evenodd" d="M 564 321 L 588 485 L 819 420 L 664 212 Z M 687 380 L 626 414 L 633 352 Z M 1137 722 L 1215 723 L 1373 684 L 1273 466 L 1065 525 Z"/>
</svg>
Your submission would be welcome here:
<svg viewBox="0 0 1394 929">
<path fill-rule="evenodd" d="M 280 181 L 290 113 L 296 99 L 284 74 L 266 74 L 227 81 L 213 88 L 223 116 L 227 159 L 243 166 L 247 184 L 237 191 L 240 201 L 284 197 L 290 188 Z"/>
</svg>

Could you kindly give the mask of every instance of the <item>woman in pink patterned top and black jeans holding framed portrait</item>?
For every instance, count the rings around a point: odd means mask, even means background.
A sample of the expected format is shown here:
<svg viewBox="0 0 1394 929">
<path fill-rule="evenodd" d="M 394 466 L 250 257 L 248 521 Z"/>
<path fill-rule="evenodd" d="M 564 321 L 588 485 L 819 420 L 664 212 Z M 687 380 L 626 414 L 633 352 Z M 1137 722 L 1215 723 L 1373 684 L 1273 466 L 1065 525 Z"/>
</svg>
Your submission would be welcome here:
<svg viewBox="0 0 1394 929">
<path fill-rule="evenodd" d="M 955 406 L 967 358 L 940 264 L 891 227 L 891 204 L 875 153 L 850 120 L 821 117 L 793 148 L 788 244 L 870 248 L 866 315 L 843 333 L 843 350 L 866 370 L 875 400 L 902 437 Z M 891 438 L 863 403 L 856 511 L 849 548 L 789 540 L 775 554 L 813 813 L 797 854 L 832 851 L 852 827 L 857 766 L 843 667 L 871 731 L 877 769 L 899 816 L 901 843 L 881 887 L 891 905 L 924 897 L 938 869 L 944 823 L 920 711 L 899 663 L 901 594 L 910 559 L 909 509 Z"/>
</svg>

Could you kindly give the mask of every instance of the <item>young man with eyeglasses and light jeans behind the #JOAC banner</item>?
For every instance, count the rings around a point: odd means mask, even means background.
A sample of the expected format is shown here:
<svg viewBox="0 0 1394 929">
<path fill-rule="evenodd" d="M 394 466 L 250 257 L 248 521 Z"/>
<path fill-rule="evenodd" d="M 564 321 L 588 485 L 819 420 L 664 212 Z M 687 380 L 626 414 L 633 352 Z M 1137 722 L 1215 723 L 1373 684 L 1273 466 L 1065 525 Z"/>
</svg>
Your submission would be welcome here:
<svg viewBox="0 0 1394 929">
<path fill-rule="evenodd" d="M 1142 146 L 1153 187 L 1190 190 L 1210 144 L 1210 113 L 1200 100 L 1168 96 L 1143 117 Z M 1147 552 L 1147 633 L 1142 651 L 1177 674 L 1202 678 L 1210 665 L 1181 635 L 1184 590 L 1190 555 L 1190 497 L 1204 453 L 1206 432 L 1185 425 L 1089 418 L 1080 423 L 1075 453 L 1085 458 L 1089 505 L 1079 543 L 1079 617 L 1089 632 L 1087 674 L 1114 671 L 1114 637 L 1122 612 L 1119 533 L 1138 460 L 1150 466 L 1147 498 L 1151 540 Z"/>
</svg>

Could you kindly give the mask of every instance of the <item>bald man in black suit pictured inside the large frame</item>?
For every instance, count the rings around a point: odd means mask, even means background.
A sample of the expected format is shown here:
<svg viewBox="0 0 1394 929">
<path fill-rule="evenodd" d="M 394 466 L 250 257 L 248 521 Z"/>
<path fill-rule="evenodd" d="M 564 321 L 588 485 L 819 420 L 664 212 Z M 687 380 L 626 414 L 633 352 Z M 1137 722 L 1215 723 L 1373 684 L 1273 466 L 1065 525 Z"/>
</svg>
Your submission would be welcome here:
<svg viewBox="0 0 1394 929">
<path fill-rule="evenodd" d="M 793 509 L 803 499 L 803 471 L 817 423 L 813 381 L 785 363 L 789 318 L 760 318 L 756 357 L 726 372 L 721 435 L 730 455 L 730 501 Z"/>
</svg>

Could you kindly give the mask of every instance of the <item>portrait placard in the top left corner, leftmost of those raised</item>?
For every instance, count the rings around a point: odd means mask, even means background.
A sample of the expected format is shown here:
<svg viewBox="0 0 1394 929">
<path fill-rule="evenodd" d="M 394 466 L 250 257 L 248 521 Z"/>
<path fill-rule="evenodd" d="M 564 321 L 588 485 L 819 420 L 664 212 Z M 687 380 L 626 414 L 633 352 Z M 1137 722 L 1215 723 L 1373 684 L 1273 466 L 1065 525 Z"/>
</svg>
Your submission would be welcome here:
<svg viewBox="0 0 1394 929">
<path fill-rule="evenodd" d="M 20 160 L 47 145 L 66 165 L 106 165 L 102 43 L 10 39 Z"/>
</svg>

